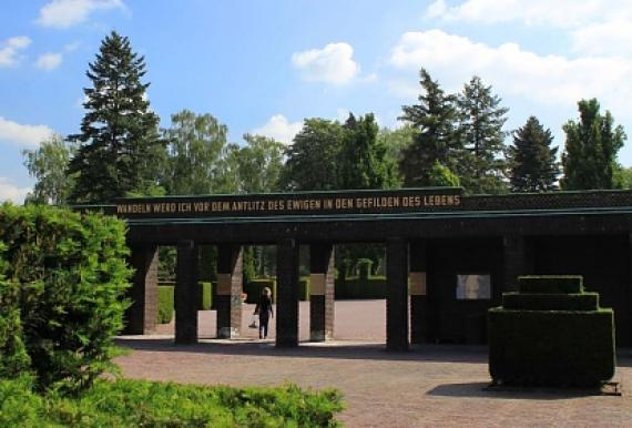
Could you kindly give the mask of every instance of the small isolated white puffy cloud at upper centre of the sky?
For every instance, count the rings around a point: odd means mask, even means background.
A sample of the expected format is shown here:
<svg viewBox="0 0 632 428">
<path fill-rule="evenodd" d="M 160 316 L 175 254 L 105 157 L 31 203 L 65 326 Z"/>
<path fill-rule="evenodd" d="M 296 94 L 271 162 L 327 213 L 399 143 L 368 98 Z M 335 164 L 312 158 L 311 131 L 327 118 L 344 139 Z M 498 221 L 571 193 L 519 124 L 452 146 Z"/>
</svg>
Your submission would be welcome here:
<svg viewBox="0 0 632 428">
<path fill-rule="evenodd" d="M 323 49 L 310 49 L 292 54 L 292 64 L 300 70 L 303 79 L 337 85 L 349 83 L 360 71 L 354 61 L 354 48 L 348 43 L 329 43 Z"/>
</svg>

